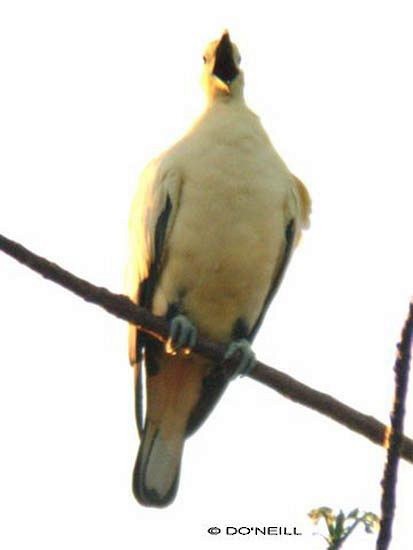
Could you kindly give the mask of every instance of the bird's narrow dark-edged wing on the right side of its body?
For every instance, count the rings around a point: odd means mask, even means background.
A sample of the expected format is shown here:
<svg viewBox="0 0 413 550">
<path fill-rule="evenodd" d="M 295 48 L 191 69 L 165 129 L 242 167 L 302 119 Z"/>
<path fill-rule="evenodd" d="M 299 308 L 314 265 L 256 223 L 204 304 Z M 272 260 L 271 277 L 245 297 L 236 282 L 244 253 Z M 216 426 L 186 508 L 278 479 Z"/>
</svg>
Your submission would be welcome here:
<svg viewBox="0 0 413 550">
<path fill-rule="evenodd" d="M 284 249 L 277 261 L 274 269 L 272 283 L 264 301 L 260 315 L 256 320 L 250 334 L 249 339 L 252 341 L 261 326 L 262 320 L 267 312 L 267 309 L 274 298 L 277 290 L 284 277 L 284 273 L 288 266 L 294 247 L 298 244 L 301 236 L 301 230 L 306 229 L 310 225 L 311 199 L 310 195 L 303 184 L 297 177 L 293 176 L 292 185 L 287 201 L 286 208 L 286 226 Z"/>
</svg>

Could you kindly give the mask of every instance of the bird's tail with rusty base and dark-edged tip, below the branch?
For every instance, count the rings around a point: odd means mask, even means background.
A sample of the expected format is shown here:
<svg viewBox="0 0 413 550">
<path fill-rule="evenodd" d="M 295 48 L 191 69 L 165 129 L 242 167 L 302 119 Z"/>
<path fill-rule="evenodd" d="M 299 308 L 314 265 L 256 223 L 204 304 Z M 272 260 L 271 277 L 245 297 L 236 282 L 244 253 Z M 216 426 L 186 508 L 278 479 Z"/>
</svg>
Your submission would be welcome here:
<svg viewBox="0 0 413 550">
<path fill-rule="evenodd" d="M 188 420 L 207 365 L 203 358 L 166 355 L 157 342 L 146 345 L 145 363 L 146 414 L 133 492 L 141 504 L 161 507 L 170 504 L 178 488 Z"/>
</svg>

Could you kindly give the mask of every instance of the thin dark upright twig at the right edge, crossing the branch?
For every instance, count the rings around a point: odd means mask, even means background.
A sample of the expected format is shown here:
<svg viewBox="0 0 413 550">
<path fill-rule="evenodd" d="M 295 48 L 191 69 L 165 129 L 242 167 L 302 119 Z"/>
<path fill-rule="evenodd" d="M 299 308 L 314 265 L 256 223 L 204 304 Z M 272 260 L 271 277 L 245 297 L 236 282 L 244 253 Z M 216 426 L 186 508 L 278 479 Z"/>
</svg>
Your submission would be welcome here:
<svg viewBox="0 0 413 550">
<path fill-rule="evenodd" d="M 403 423 L 409 382 L 410 354 L 413 343 L 413 302 L 403 328 L 402 338 L 397 346 L 397 359 L 394 365 L 395 395 L 391 414 L 390 442 L 387 461 L 381 485 L 380 533 L 377 538 L 377 550 L 387 550 L 390 545 L 394 512 L 396 508 L 397 469 L 399 466 L 400 445 L 403 439 Z"/>
</svg>

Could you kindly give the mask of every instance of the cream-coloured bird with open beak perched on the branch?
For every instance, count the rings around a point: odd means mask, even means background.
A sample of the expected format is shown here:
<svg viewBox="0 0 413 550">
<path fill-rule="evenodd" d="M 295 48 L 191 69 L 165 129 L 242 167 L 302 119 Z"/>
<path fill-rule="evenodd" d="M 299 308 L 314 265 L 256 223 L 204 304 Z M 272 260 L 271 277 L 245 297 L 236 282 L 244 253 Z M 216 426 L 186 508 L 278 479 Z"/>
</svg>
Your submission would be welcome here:
<svg viewBox="0 0 413 550">
<path fill-rule="evenodd" d="M 309 193 L 246 105 L 240 63 L 228 31 L 208 44 L 205 109 L 144 168 L 132 202 L 128 295 L 169 323 L 166 345 L 129 326 L 144 506 L 174 500 L 185 440 L 229 383 L 197 339 L 237 354 L 237 373 L 254 367 L 252 341 L 309 226 Z"/>
</svg>

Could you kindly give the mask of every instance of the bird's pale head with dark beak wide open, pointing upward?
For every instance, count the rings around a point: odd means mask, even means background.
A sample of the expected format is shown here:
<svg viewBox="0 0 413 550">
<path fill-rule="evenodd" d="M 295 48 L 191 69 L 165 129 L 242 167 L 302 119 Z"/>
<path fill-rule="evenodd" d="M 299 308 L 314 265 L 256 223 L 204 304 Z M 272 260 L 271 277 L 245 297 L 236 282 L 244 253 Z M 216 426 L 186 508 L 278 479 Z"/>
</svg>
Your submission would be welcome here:
<svg viewBox="0 0 413 550">
<path fill-rule="evenodd" d="M 228 31 L 210 42 L 204 52 L 203 85 L 209 100 L 242 97 L 244 75 L 241 56 Z"/>
</svg>

